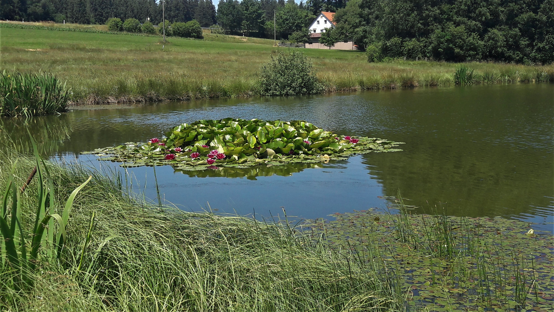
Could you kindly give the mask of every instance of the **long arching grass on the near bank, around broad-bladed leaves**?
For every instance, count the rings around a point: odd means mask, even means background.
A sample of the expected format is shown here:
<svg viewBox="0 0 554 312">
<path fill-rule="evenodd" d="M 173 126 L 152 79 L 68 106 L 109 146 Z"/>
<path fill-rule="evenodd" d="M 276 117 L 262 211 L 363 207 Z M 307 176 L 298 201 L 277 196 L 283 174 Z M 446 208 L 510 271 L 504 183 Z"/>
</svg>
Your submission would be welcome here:
<svg viewBox="0 0 554 312">
<path fill-rule="evenodd" d="M 17 163 L 16 163 L 17 160 Z M 3 155 L 1 181 L 23 185 L 35 163 Z M 14 288 L 5 254 L 0 306 L 18 311 L 346 311 L 401 308 L 387 280 L 350 253 L 302 240 L 288 224 L 150 207 L 97 172 L 45 162 L 19 194 L 22 229 L 35 219 L 40 188 L 55 203 L 83 184 L 73 202 L 59 260 L 43 248 L 29 271 L 33 285 Z M 6 168 L 14 168 L 13 176 Z M 46 183 L 46 169 L 52 183 Z M 121 180 L 119 180 L 121 181 Z M 13 192 L 13 191 L 12 191 Z M 11 206 L 11 193 L 7 193 Z M 52 197 L 50 197 L 52 199 Z M 49 202 L 49 200 L 47 202 Z M 44 206 L 43 206 L 44 207 Z M 19 209 L 19 207 L 18 207 Z M 50 205 L 47 213 L 60 213 Z M 4 214 L 11 222 L 12 215 Z M 54 226 L 55 228 L 55 226 Z M 23 235 L 27 235 L 24 233 Z M 20 236 L 23 237 L 23 236 Z M 29 248 L 27 249 L 29 250 Z"/>
</svg>

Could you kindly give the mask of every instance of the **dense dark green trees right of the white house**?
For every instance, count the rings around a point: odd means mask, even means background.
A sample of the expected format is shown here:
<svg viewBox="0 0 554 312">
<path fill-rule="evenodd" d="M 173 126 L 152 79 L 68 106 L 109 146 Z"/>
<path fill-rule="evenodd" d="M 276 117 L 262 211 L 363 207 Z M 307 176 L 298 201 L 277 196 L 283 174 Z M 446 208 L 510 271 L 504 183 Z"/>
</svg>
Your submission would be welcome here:
<svg viewBox="0 0 554 312">
<path fill-rule="evenodd" d="M 552 0 L 352 0 L 334 21 L 337 41 L 353 39 L 370 62 L 554 61 Z"/>
</svg>

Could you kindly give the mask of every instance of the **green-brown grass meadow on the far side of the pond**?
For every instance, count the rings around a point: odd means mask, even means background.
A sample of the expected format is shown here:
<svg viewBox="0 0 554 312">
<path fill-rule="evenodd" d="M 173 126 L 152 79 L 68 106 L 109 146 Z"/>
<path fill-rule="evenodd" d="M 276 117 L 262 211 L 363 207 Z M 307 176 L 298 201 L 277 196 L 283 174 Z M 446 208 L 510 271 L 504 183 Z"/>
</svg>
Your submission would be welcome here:
<svg viewBox="0 0 554 312">
<path fill-rule="evenodd" d="M 289 49 L 273 47 L 270 39 L 211 33 L 203 40 L 170 37 L 166 44 L 160 37 L 39 29 L 0 28 L 0 37 L 2 69 L 52 72 L 67 81 L 79 103 L 256 95 L 261 64 Z M 459 67 L 403 60 L 368 63 L 357 51 L 302 51 L 314 62 L 326 92 L 452 85 Z M 552 65 L 465 65 L 475 70 L 476 83 L 554 80 Z"/>
</svg>

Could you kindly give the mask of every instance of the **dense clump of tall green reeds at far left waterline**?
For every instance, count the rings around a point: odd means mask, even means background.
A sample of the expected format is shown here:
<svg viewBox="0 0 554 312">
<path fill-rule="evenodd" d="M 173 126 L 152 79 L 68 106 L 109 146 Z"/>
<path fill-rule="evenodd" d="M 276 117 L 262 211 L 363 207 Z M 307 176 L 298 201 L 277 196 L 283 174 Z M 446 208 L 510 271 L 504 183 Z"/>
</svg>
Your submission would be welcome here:
<svg viewBox="0 0 554 312">
<path fill-rule="evenodd" d="M 60 113 L 70 91 L 53 75 L 0 73 L 0 117 Z"/>
</svg>

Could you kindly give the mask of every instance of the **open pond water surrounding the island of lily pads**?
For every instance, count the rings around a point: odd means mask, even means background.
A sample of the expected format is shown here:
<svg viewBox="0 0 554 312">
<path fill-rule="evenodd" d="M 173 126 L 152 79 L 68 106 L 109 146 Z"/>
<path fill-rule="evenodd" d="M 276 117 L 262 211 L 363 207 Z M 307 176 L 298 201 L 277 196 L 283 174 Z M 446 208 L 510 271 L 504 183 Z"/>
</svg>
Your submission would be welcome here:
<svg viewBox="0 0 554 312">
<path fill-rule="evenodd" d="M 74 110 L 32 120 L 1 120 L 18 148 L 27 128 L 52 159 L 125 142 L 144 142 L 198 119 L 304 119 L 338 134 L 399 142 L 403 152 L 370 153 L 285 169 L 176 172 L 156 167 L 161 197 L 184 210 L 329 218 L 386 207 L 381 195 L 411 199 L 418 213 L 527 219 L 552 230 L 554 84 L 415 88 L 313 97 L 219 99 Z M 5 139 L 5 138 L 4 138 Z M 311 168 L 310 168 L 311 167 Z M 314 168 L 315 167 L 315 168 Z M 156 200 L 153 168 L 130 168 L 134 190 Z M 216 210 L 217 209 L 217 210 Z"/>
</svg>

